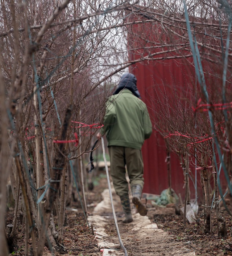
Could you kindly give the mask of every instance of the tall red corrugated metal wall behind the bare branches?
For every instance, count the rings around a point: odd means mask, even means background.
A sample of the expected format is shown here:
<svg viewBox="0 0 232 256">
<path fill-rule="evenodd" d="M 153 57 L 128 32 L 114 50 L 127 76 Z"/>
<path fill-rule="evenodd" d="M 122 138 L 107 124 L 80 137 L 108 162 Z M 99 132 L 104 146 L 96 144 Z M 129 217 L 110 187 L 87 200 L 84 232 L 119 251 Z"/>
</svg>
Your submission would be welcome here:
<svg viewBox="0 0 232 256">
<path fill-rule="evenodd" d="M 140 27 L 139 27 L 140 26 Z M 132 29 L 136 32 L 142 30 L 144 37 L 146 34 L 148 37 L 156 37 L 156 35 L 150 34 L 150 27 L 146 25 L 133 25 Z M 157 28 L 158 31 L 158 28 Z M 134 33 L 131 33 L 134 35 Z M 153 38 L 154 40 L 154 38 Z M 162 38 L 165 40 L 165 38 Z M 129 52 L 130 61 L 139 59 L 142 56 L 146 56 L 144 50 L 144 45 L 139 38 L 128 38 L 129 45 L 133 44 L 136 50 Z M 136 46 L 137 47 L 136 47 Z M 143 52 L 144 51 L 144 52 Z M 171 53 L 170 56 L 173 56 Z M 162 53 L 159 55 L 162 57 Z M 190 93 L 193 93 L 192 88 L 195 85 L 195 70 L 194 65 L 192 65 L 191 58 L 186 61 L 185 58 L 177 59 L 160 59 L 158 61 L 143 61 L 137 62 L 130 66 L 130 72 L 137 77 L 137 87 L 141 94 L 142 100 L 148 106 L 148 110 L 153 122 L 154 115 L 154 104 L 153 99 L 157 97 L 157 92 L 154 93 L 154 87 L 160 89 L 160 94 L 158 97 L 163 97 L 162 92 L 166 90 L 166 93 L 173 93 L 172 89 L 175 85 L 176 88 L 182 90 L 182 88 L 190 88 Z M 189 95 L 188 100 L 191 100 L 192 95 Z M 194 106 L 194 102 L 192 105 Z M 160 194 L 164 189 L 169 187 L 168 184 L 168 174 L 167 174 L 167 163 L 165 161 L 167 153 L 165 142 L 159 133 L 153 131 L 152 136 L 145 141 L 142 147 L 142 154 L 144 158 L 144 192 L 151 194 Z M 171 153 L 171 187 L 175 190 L 177 194 L 181 194 L 184 198 L 184 175 L 181 168 L 180 160 L 176 154 Z M 192 159 L 194 163 L 194 159 Z M 194 166 L 191 167 L 191 176 L 194 180 L 190 179 L 190 198 L 195 198 L 195 169 Z M 222 180 L 224 180 L 223 174 L 221 175 Z M 202 186 L 200 184 L 200 172 L 196 174 L 197 180 L 197 194 L 202 195 Z M 226 182 L 224 182 L 226 184 Z M 199 201 L 201 198 L 199 198 Z"/>
</svg>

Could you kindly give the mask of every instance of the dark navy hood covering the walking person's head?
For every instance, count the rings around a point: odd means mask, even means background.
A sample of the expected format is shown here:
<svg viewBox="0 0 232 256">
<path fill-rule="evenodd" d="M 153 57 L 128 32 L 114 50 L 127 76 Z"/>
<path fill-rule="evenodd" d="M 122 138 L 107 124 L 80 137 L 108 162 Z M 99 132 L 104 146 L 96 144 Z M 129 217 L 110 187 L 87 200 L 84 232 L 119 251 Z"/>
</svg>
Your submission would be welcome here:
<svg viewBox="0 0 232 256">
<path fill-rule="evenodd" d="M 117 86 L 113 95 L 118 94 L 123 89 L 128 89 L 134 94 L 134 96 L 141 98 L 140 93 L 138 92 L 136 83 L 137 83 L 137 79 L 133 74 L 131 73 L 123 74 L 120 78 L 119 85 Z"/>
</svg>

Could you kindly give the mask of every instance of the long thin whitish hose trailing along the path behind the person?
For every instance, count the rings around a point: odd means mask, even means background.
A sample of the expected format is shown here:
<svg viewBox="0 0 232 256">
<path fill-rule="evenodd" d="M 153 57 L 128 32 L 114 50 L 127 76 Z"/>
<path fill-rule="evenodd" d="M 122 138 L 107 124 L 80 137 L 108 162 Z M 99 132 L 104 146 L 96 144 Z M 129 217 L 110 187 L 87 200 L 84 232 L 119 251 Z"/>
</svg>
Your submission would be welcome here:
<svg viewBox="0 0 232 256">
<path fill-rule="evenodd" d="M 117 218 L 116 218 L 116 214 L 115 214 L 115 208 L 113 206 L 113 197 L 112 197 L 112 191 L 111 191 L 111 185 L 110 185 L 110 180 L 109 180 L 109 171 L 108 171 L 108 165 L 107 165 L 107 161 L 105 158 L 105 146 L 104 146 L 104 139 L 103 137 L 101 137 L 101 145 L 102 145 L 102 151 L 103 151 L 103 158 L 104 158 L 104 162 L 105 162 L 105 171 L 106 171 L 106 176 L 107 176 L 107 182 L 108 182 L 108 187 L 109 187 L 109 197 L 110 197 L 110 201 L 111 201 L 111 207 L 112 207 L 112 211 L 113 211 L 113 219 L 115 220 L 115 227 L 117 229 L 117 236 L 119 237 L 119 243 L 121 248 L 123 249 L 125 256 L 127 255 L 127 250 L 123 245 L 123 242 L 121 240 L 121 236 L 119 233 L 119 226 L 117 225 Z"/>
</svg>

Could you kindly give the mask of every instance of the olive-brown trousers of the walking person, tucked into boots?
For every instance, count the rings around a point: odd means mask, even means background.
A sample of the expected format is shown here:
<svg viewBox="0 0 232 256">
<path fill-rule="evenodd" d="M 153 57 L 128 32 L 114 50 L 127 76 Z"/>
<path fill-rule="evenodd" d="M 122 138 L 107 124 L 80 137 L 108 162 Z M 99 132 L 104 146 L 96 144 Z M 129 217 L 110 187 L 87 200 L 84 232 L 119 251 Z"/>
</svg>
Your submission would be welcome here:
<svg viewBox="0 0 232 256">
<path fill-rule="evenodd" d="M 110 172 L 116 194 L 123 196 L 129 192 L 126 170 L 130 185 L 140 184 L 143 187 L 144 164 L 141 150 L 121 146 L 109 146 L 108 149 Z"/>
</svg>

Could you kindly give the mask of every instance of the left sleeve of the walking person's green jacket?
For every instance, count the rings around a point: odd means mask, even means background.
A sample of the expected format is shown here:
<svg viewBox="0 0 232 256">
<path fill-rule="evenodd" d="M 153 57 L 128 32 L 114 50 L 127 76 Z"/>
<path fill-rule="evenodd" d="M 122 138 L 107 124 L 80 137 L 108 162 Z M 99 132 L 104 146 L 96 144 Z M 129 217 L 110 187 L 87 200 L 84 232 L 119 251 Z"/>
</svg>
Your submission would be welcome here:
<svg viewBox="0 0 232 256">
<path fill-rule="evenodd" d="M 101 136 L 103 136 L 107 131 L 110 130 L 111 126 L 115 122 L 116 118 L 116 111 L 115 111 L 115 106 L 114 102 L 112 99 L 109 99 L 106 103 L 106 108 L 105 108 L 105 117 L 104 117 L 104 126 L 100 130 Z"/>
</svg>

